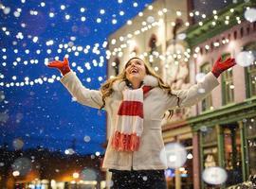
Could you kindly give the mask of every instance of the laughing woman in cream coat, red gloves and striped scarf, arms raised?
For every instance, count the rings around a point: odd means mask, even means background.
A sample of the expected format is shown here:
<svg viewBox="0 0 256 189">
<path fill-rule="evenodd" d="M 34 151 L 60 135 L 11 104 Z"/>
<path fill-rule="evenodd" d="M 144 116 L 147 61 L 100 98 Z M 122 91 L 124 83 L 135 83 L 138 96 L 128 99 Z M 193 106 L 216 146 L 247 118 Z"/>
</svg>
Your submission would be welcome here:
<svg viewBox="0 0 256 189">
<path fill-rule="evenodd" d="M 206 97 L 218 84 L 217 77 L 235 64 L 234 59 L 218 59 L 204 81 L 188 90 L 171 91 L 143 61 L 127 61 L 119 76 L 108 79 L 100 91 L 82 86 L 68 65 L 68 60 L 55 60 L 49 67 L 58 68 L 61 82 L 85 106 L 104 108 L 110 115 L 111 131 L 103 168 L 112 172 L 112 188 L 166 188 L 166 161 L 161 119 L 167 110 L 192 106 Z M 205 93 L 198 93 L 204 89 Z M 200 91 L 200 90 L 199 90 Z"/>
</svg>

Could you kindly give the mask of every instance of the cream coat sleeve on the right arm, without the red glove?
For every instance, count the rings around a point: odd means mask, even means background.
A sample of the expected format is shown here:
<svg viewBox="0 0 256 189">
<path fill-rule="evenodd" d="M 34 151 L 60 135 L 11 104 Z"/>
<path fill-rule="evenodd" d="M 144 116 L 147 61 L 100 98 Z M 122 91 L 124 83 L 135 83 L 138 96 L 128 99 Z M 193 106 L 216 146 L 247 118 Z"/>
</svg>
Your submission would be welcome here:
<svg viewBox="0 0 256 189">
<path fill-rule="evenodd" d="M 192 85 L 189 89 L 172 91 L 173 95 L 168 95 L 167 109 L 174 109 L 177 106 L 190 107 L 204 99 L 218 85 L 218 79 L 210 72 L 203 81 Z"/>
</svg>

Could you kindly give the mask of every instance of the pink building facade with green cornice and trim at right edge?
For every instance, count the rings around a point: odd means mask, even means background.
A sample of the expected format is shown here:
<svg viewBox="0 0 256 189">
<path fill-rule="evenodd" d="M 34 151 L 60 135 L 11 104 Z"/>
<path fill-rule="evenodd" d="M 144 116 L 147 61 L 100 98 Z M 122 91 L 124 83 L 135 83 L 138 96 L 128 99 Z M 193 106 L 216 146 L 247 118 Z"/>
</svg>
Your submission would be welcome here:
<svg viewBox="0 0 256 189">
<path fill-rule="evenodd" d="M 194 154 L 200 160 L 198 173 L 210 166 L 223 167 L 228 180 L 222 187 L 246 181 L 249 175 L 255 175 L 256 168 L 256 65 L 255 60 L 245 65 L 246 57 L 239 60 L 242 52 L 256 55 L 256 24 L 243 19 L 247 7 L 255 7 L 255 3 L 230 5 L 220 10 L 217 21 L 212 16 L 204 26 L 187 30 L 187 41 L 194 52 L 190 60 L 195 65 L 194 73 L 209 72 L 218 55 L 240 61 L 219 77 L 220 85 L 196 105 L 196 116 L 187 119 L 195 141 Z M 212 22 L 217 25 L 212 26 Z M 207 187 L 202 180 L 200 185 Z"/>
</svg>

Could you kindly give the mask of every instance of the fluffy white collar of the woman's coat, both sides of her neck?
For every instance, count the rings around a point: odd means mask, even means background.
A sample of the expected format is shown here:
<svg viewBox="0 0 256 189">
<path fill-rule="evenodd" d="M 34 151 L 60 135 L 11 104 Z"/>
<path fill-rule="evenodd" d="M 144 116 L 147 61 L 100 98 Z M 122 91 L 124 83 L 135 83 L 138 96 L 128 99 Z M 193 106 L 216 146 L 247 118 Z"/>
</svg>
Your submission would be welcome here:
<svg viewBox="0 0 256 189">
<path fill-rule="evenodd" d="M 151 75 L 147 75 L 143 79 L 143 85 L 144 86 L 156 87 L 156 86 L 158 86 L 158 79 L 156 77 L 151 76 Z M 124 80 L 123 81 L 116 80 L 113 83 L 112 89 L 114 91 L 123 91 L 124 88 L 127 88 L 126 82 Z"/>
</svg>

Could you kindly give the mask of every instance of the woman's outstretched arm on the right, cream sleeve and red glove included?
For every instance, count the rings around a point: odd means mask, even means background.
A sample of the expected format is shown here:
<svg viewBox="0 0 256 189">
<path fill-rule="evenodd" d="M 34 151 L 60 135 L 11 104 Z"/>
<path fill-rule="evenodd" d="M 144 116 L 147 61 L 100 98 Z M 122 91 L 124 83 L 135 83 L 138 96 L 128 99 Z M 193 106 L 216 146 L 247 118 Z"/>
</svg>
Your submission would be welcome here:
<svg viewBox="0 0 256 189">
<path fill-rule="evenodd" d="M 218 77 L 222 72 L 235 65 L 234 59 L 228 59 L 221 61 L 221 58 L 216 60 L 212 70 L 208 73 L 204 80 L 192 85 L 186 90 L 172 91 L 172 94 L 168 98 L 168 108 L 172 109 L 178 107 L 190 107 L 202 99 L 204 99 L 210 92 L 219 85 Z"/>
</svg>

